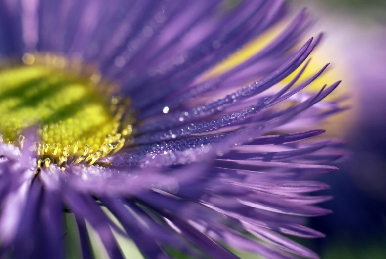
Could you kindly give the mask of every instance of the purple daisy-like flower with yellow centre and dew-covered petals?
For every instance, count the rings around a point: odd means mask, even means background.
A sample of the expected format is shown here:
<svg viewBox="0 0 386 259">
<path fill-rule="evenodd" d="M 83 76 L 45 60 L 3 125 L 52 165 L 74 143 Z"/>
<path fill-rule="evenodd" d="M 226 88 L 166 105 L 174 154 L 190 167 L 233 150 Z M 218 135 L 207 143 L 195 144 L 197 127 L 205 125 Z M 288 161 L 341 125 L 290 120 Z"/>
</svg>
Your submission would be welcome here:
<svg viewBox="0 0 386 259">
<path fill-rule="evenodd" d="M 206 76 L 286 9 L 281 0 L 2 1 L 1 253 L 64 258 L 71 213 L 85 259 L 86 222 L 114 259 L 123 256 L 113 232 L 152 259 L 175 249 L 237 258 L 229 247 L 318 258 L 281 234 L 323 237 L 302 217 L 329 212 L 315 204 L 330 197 L 304 194 L 328 188 L 310 179 L 336 168 L 315 163 L 340 154 L 333 142 L 301 140 L 341 110 L 319 103 L 339 82 L 300 92 L 327 65 L 297 82 L 320 36 L 295 48 L 310 24 L 302 11 L 260 52 Z"/>
</svg>

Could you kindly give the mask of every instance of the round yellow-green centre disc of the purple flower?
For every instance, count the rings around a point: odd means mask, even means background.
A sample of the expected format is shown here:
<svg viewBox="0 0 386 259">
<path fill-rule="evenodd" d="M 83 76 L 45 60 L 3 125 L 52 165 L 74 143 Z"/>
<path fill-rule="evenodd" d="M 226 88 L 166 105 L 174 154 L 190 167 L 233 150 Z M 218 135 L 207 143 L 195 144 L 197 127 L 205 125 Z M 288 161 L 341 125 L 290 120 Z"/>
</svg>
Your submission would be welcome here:
<svg viewBox="0 0 386 259">
<path fill-rule="evenodd" d="M 23 146 L 23 130 L 37 126 L 38 166 L 94 164 L 131 134 L 128 104 L 97 72 L 54 55 L 25 54 L 0 71 L 0 127 L 4 142 Z"/>
</svg>

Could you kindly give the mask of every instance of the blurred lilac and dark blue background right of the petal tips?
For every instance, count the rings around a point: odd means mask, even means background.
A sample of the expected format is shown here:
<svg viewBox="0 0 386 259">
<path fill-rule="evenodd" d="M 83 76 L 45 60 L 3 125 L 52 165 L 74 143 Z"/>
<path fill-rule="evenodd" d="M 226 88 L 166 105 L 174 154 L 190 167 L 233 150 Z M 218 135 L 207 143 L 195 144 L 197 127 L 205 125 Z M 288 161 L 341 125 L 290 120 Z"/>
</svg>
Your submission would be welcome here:
<svg viewBox="0 0 386 259">
<path fill-rule="evenodd" d="M 328 56 L 351 96 L 350 123 L 330 125 L 343 138 L 351 159 L 340 171 L 319 180 L 331 185 L 323 204 L 333 214 L 309 225 L 325 239 L 306 244 L 322 259 L 386 259 L 386 1 L 298 0 L 316 14 L 315 29 L 325 42 L 318 54 Z"/>
</svg>

